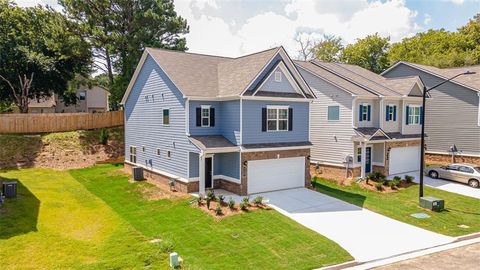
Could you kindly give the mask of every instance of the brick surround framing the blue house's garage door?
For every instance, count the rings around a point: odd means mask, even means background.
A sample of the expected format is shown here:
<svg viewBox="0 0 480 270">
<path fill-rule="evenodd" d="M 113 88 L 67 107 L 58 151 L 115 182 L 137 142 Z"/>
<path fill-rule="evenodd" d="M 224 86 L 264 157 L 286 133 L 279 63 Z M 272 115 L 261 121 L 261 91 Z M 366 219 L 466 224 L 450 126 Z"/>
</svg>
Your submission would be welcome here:
<svg viewBox="0 0 480 270">
<path fill-rule="evenodd" d="M 245 161 L 261 160 L 261 159 L 277 159 L 277 158 L 289 158 L 289 157 L 305 157 L 305 186 L 309 187 L 310 184 L 310 161 L 307 157 L 310 156 L 310 149 L 296 149 L 296 150 L 280 150 L 280 151 L 258 151 L 258 152 L 244 152 L 241 154 L 241 184 L 240 192 L 237 194 L 247 195 L 248 192 L 248 165 L 243 165 Z"/>
</svg>

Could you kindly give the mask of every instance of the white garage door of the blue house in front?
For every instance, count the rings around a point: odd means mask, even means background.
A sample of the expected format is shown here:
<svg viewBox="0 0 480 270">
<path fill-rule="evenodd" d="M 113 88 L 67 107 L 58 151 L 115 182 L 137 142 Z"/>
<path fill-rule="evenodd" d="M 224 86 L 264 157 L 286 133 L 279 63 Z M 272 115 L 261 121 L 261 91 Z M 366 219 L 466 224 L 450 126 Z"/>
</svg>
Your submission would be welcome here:
<svg viewBox="0 0 480 270">
<path fill-rule="evenodd" d="M 248 193 L 305 186 L 305 157 L 248 162 Z"/>
</svg>

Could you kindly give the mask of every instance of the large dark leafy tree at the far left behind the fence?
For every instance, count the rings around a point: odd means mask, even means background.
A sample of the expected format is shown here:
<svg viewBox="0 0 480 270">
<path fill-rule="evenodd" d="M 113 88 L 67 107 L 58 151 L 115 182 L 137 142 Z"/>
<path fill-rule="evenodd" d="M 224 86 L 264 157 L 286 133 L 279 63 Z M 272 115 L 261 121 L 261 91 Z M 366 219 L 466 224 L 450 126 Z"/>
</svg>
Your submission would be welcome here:
<svg viewBox="0 0 480 270">
<path fill-rule="evenodd" d="M 90 72 L 89 46 L 59 12 L 0 0 L 0 98 L 28 112 L 31 98 L 62 94 Z"/>
</svg>

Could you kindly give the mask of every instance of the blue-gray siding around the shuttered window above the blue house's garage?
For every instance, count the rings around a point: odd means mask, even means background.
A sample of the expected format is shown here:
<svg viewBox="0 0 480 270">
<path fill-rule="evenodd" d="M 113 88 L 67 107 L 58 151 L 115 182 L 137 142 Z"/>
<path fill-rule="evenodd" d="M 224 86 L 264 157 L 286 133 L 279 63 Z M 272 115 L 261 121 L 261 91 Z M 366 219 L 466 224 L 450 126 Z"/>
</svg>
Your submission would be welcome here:
<svg viewBox="0 0 480 270">
<path fill-rule="evenodd" d="M 288 105 L 293 109 L 293 130 L 262 132 L 262 108 Z M 309 102 L 243 101 L 243 144 L 308 141 Z"/>
</svg>

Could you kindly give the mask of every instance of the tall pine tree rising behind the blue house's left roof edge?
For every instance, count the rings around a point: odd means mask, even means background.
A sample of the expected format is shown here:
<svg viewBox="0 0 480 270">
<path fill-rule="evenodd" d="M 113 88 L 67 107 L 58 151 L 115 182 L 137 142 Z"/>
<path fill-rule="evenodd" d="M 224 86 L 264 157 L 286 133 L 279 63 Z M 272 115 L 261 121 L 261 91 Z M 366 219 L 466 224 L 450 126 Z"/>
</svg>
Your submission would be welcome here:
<svg viewBox="0 0 480 270">
<path fill-rule="evenodd" d="M 187 22 L 177 15 L 172 0 L 59 2 L 94 48 L 96 67 L 108 75 L 114 103 L 122 98 L 145 47 L 187 49 Z"/>
</svg>

